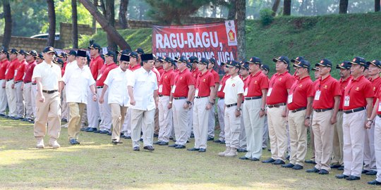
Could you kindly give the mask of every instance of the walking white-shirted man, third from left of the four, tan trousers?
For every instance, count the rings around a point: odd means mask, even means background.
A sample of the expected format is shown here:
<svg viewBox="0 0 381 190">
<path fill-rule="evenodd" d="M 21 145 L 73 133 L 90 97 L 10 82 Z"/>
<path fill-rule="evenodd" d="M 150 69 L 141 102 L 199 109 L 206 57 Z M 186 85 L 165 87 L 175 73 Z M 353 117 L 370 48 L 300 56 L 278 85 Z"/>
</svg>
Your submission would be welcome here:
<svg viewBox="0 0 381 190">
<path fill-rule="evenodd" d="M 121 124 L 124 122 L 127 108 L 129 106 L 130 97 L 128 96 L 128 85 L 133 85 L 133 72 L 128 70 L 130 57 L 122 54 L 119 61 L 119 68 L 110 70 L 104 81 L 102 95 L 100 96 L 99 103 L 104 102 L 104 93 L 109 89 L 109 105 L 111 107 L 112 119 L 112 144 L 122 144 L 121 138 Z"/>
</svg>

